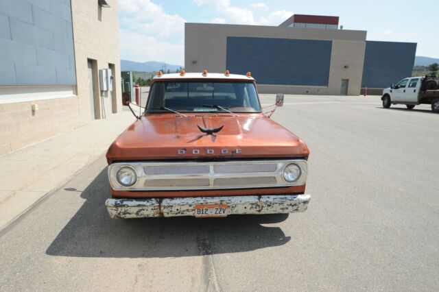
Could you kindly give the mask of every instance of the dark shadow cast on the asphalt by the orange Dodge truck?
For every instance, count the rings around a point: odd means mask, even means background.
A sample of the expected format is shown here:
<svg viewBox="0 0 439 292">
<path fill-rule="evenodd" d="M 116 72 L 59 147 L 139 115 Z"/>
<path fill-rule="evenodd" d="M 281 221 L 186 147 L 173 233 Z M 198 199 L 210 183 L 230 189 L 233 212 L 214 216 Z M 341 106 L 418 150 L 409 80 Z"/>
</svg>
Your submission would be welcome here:
<svg viewBox="0 0 439 292">
<path fill-rule="evenodd" d="M 287 219 L 266 216 L 230 216 L 111 219 L 105 200 L 110 186 L 106 168 L 87 186 L 86 199 L 47 248 L 52 256 L 108 258 L 165 258 L 247 252 L 284 245 L 291 238 L 281 228 L 265 227 Z M 75 194 L 75 188 L 64 188 Z"/>
</svg>

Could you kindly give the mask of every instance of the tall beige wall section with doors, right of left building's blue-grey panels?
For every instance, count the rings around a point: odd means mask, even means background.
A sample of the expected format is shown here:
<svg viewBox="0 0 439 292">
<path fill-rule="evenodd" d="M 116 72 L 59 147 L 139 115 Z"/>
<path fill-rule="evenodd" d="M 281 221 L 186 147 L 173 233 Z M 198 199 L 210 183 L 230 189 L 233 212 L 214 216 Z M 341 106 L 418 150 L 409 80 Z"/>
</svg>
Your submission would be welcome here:
<svg viewBox="0 0 439 292">
<path fill-rule="evenodd" d="M 88 59 L 96 61 L 97 70 L 109 68 L 108 64 L 115 65 L 115 72 L 112 73 L 115 75 L 115 95 L 108 96 L 108 92 L 105 93 L 106 115 L 122 110 L 117 0 L 107 0 L 107 3 L 110 8 L 100 7 L 97 1 L 71 1 L 80 120 L 84 123 L 91 120 L 89 99 L 92 97 L 88 94 Z M 97 70 L 94 71 L 95 86 L 99 83 Z M 95 95 L 95 116 L 100 119 L 103 112 L 102 97 L 98 88 Z"/>
</svg>

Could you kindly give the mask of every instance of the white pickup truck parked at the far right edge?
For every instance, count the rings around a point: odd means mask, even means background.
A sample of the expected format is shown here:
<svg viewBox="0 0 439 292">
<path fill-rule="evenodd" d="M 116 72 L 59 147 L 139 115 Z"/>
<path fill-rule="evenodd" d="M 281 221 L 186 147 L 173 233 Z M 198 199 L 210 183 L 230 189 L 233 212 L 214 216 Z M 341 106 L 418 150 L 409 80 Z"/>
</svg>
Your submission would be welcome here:
<svg viewBox="0 0 439 292">
<path fill-rule="evenodd" d="M 383 90 L 383 108 L 392 104 L 405 104 L 409 110 L 419 104 L 431 104 L 431 110 L 439 112 L 439 78 L 408 77 Z"/>
</svg>

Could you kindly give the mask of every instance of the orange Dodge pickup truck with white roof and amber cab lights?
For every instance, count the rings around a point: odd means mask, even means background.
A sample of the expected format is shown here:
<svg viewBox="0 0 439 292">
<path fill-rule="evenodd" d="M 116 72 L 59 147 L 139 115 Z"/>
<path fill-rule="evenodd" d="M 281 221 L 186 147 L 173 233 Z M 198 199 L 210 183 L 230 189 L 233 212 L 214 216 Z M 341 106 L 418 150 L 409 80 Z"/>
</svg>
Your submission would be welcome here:
<svg viewBox="0 0 439 292">
<path fill-rule="evenodd" d="M 110 217 L 307 210 L 309 149 L 272 112 L 262 112 L 250 73 L 159 72 L 143 114 L 106 154 Z"/>
</svg>

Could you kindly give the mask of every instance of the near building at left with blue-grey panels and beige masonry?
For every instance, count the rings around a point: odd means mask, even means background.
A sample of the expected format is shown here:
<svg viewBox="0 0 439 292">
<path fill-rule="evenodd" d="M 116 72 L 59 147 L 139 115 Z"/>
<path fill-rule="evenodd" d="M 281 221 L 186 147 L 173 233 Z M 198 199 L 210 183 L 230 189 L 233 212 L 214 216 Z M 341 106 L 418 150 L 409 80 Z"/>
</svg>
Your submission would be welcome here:
<svg viewBox="0 0 439 292">
<path fill-rule="evenodd" d="M 0 155 L 121 111 L 119 66 L 117 0 L 0 1 Z"/>
</svg>

